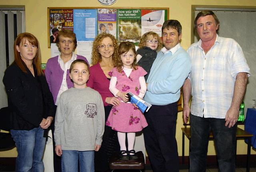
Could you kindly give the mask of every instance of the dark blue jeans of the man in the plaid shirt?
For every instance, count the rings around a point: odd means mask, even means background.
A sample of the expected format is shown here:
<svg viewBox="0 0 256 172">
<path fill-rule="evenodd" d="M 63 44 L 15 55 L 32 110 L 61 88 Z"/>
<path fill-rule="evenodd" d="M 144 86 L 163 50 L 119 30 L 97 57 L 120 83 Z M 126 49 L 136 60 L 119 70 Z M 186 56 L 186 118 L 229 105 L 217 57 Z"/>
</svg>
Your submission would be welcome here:
<svg viewBox="0 0 256 172">
<path fill-rule="evenodd" d="M 235 172 L 236 129 L 225 126 L 225 119 L 190 115 L 190 172 L 205 172 L 208 137 L 212 130 L 220 172 Z"/>
</svg>

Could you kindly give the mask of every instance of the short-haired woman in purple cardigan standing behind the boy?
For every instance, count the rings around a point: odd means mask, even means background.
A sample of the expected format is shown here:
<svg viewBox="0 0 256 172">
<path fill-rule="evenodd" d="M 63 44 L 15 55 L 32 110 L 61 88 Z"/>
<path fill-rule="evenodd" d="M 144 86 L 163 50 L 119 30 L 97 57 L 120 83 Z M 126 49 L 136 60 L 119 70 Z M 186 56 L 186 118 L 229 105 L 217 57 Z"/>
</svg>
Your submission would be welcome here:
<svg viewBox="0 0 256 172">
<path fill-rule="evenodd" d="M 82 59 L 88 63 L 83 56 L 73 53 L 77 46 L 76 34 L 70 30 L 63 30 L 58 32 L 56 44 L 59 48 L 60 55 L 48 59 L 45 68 L 45 76 L 48 82 L 50 91 L 54 99 L 55 108 L 58 106 L 59 97 L 62 92 L 68 90 L 73 85 L 69 77 L 69 68 L 73 61 Z M 89 63 L 88 63 L 89 65 Z M 56 111 L 56 109 L 55 109 Z M 54 142 L 54 124 L 51 125 L 53 144 Z M 61 172 L 61 158 L 54 153 L 54 172 Z"/>
</svg>

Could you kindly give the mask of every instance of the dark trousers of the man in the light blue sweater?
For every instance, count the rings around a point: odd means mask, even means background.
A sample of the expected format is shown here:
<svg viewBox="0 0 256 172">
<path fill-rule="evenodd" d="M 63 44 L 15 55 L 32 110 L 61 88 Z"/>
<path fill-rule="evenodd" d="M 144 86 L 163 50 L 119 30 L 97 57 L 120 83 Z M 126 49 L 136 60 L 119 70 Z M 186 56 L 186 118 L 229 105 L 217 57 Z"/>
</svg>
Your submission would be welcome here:
<svg viewBox="0 0 256 172">
<path fill-rule="evenodd" d="M 177 102 L 152 105 L 145 113 L 148 127 L 143 129 L 146 151 L 154 172 L 178 172 L 179 158 L 176 134 Z"/>
</svg>

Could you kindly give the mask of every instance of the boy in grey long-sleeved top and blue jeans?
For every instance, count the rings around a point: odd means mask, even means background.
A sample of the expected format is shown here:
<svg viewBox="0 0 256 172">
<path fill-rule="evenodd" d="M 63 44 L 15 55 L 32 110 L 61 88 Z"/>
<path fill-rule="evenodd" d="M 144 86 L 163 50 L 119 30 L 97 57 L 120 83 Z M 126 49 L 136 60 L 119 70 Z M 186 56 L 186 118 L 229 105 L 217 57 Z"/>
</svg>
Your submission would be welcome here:
<svg viewBox="0 0 256 172">
<path fill-rule="evenodd" d="M 89 66 L 75 60 L 70 66 L 74 87 L 60 95 L 55 119 L 55 152 L 62 156 L 64 172 L 94 172 L 94 151 L 100 149 L 104 133 L 104 106 L 100 94 L 86 87 Z"/>
</svg>

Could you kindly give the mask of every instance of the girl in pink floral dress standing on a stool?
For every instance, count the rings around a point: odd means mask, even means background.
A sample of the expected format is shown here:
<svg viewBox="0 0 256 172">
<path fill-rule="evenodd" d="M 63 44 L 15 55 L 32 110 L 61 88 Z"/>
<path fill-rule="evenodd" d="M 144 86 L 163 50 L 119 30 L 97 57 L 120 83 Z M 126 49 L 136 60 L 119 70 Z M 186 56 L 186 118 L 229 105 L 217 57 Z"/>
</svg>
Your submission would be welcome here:
<svg viewBox="0 0 256 172">
<path fill-rule="evenodd" d="M 146 93 L 146 81 L 144 75 L 147 72 L 136 65 L 136 50 L 133 43 L 122 42 L 119 45 L 120 59 L 117 66 L 109 72 L 110 92 L 120 99 L 120 106 L 112 107 L 106 125 L 118 131 L 120 144 L 120 159 L 132 160 L 138 158 L 134 151 L 135 132 L 141 131 L 148 126 L 142 112 L 128 102 L 128 92 L 139 98 Z M 126 149 L 126 133 L 128 149 Z M 128 150 L 128 151 L 127 151 Z"/>
</svg>

